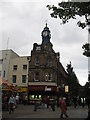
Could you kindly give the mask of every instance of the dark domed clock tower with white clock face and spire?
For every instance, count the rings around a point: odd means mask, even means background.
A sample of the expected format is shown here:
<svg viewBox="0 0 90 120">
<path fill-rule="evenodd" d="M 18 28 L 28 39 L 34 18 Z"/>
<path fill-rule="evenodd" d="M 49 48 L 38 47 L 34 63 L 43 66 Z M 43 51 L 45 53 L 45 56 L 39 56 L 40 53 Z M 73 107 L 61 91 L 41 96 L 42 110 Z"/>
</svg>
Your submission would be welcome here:
<svg viewBox="0 0 90 120">
<path fill-rule="evenodd" d="M 47 27 L 47 23 L 41 35 L 42 35 L 42 45 L 50 43 L 51 33 L 50 33 L 49 28 Z"/>
</svg>

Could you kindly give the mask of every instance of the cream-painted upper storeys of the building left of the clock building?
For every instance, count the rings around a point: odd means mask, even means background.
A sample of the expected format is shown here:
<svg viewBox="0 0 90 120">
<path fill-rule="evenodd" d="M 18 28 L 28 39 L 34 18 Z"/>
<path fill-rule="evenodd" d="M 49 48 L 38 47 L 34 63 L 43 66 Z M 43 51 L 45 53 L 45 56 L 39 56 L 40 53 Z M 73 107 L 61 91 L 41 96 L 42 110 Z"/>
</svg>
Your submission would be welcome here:
<svg viewBox="0 0 90 120">
<path fill-rule="evenodd" d="M 28 84 L 28 56 L 19 56 L 13 50 L 0 51 L 0 73 L 4 81 L 14 86 Z"/>
</svg>

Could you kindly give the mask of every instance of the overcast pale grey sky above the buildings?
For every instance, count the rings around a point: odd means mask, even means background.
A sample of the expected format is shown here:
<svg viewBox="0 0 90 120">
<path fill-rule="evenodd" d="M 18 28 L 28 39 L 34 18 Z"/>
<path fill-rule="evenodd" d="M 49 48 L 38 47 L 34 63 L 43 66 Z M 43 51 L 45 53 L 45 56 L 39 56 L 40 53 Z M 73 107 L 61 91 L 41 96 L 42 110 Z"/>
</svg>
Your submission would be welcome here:
<svg viewBox="0 0 90 120">
<path fill-rule="evenodd" d="M 46 6 L 58 5 L 58 1 L 60 0 L 0 2 L 0 49 L 8 48 L 20 56 L 29 56 L 33 44 L 41 44 L 41 32 L 47 20 L 51 31 L 50 41 L 54 51 L 60 52 L 60 62 L 66 70 L 67 64 L 71 61 L 79 83 L 85 85 L 88 81 L 88 58 L 82 54 L 82 45 L 88 42 L 88 30 L 82 30 L 77 26 L 79 17 L 65 25 L 61 24 L 59 18 L 51 18 L 51 12 Z"/>
</svg>

